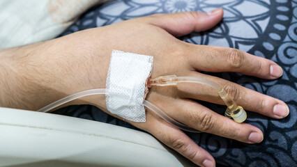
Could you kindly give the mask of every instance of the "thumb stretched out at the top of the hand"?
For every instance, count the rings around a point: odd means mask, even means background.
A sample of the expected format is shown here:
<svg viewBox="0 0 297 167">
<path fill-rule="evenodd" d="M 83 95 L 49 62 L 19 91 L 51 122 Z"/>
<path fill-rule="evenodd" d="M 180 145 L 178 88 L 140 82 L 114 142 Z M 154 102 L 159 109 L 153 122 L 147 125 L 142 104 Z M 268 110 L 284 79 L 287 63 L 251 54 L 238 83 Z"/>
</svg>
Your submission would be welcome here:
<svg viewBox="0 0 297 167">
<path fill-rule="evenodd" d="M 217 8 L 210 13 L 197 11 L 185 13 L 157 14 L 147 17 L 148 23 L 165 29 L 175 36 L 186 35 L 192 31 L 206 31 L 222 20 L 224 11 Z"/>
</svg>

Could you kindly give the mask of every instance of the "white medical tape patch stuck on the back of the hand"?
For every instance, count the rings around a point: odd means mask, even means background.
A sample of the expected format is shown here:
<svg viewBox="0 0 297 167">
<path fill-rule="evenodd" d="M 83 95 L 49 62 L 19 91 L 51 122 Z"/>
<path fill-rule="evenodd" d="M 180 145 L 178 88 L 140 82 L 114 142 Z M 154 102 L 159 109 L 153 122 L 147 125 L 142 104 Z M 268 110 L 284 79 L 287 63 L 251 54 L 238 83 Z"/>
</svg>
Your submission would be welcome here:
<svg viewBox="0 0 297 167">
<path fill-rule="evenodd" d="M 113 50 L 106 79 L 107 110 L 134 122 L 145 122 L 146 79 L 151 76 L 153 56 Z"/>
</svg>

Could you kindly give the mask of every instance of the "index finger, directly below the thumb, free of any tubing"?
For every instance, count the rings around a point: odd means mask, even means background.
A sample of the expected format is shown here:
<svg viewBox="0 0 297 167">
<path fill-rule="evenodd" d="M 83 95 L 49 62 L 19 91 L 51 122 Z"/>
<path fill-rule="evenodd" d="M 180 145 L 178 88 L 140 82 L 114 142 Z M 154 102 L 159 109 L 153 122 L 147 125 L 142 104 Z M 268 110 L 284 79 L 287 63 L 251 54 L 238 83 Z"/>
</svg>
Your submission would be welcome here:
<svg viewBox="0 0 297 167">
<path fill-rule="evenodd" d="M 192 45 L 187 53 L 196 70 L 240 72 L 263 79 L 276 79 L 282 76 L 282 67 L 277 63 L 238 49 Z"/>
</svg>

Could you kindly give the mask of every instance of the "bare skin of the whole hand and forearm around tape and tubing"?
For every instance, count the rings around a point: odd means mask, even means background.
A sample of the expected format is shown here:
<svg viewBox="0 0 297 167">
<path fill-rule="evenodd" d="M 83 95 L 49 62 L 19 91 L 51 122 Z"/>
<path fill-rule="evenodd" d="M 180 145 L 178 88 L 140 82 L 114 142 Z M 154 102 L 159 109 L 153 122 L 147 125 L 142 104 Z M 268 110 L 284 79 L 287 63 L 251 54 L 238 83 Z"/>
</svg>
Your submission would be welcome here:
<svg viewBox="0 0 297 167">
<path fill-rule="evenodd" d="M 117 49 L 154 56 L 152 78 L 169 74 L 205 77 L 224 86 L 236 103 L 248 111 L 276 119 L 286 117 L 289 108 L 284 102 L 199 72 L 240 72 L 277 79 L 282 76 L 279 65 L 237 49 L 192 45 L 175 38 L 211 29 L 221 21 L 222 15 L 220 8 L 212 13 L 151 15 L 33 45 L 3 49 L 0 51 L 0 97 L 4 98 L 0 98 L 0 105 L 36 111 L 79 91 L 105 88 L 110 54 L 112 49 Z M 207 86 L 153 86 L 146 100 L 201 132 L 244 143 L 260 143 L 264 138 L 257 127 L 238 124 L 195 102 L 223 104 L 218 93 Z M 102 95 L 84 97 L 67 105 L 71 104 L 93 104 L 109 113 Z M 211 154 L 149 110 L 146 122 L 130 124 L 151 133 L 199 166 L 215 166 Z"/>
</svg>

